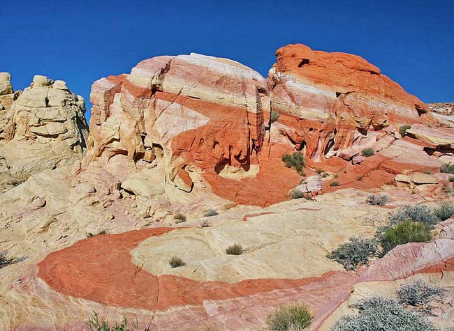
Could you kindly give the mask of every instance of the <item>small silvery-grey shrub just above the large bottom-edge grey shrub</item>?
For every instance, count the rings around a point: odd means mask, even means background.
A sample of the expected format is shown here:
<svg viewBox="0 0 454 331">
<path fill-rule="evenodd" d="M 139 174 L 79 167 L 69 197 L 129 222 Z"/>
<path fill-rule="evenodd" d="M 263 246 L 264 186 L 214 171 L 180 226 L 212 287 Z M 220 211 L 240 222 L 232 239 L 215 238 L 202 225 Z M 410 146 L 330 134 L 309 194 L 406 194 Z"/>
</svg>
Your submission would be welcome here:
<svg viewBox="0 0 454 331">
<path fill-rule="evenodd" d="M 443 288 L 429 284 L 423 279 L 416 279 L 400 286 L 397 297 L 404 305 L 422 306 L 443 293 Z"/>
</svg>

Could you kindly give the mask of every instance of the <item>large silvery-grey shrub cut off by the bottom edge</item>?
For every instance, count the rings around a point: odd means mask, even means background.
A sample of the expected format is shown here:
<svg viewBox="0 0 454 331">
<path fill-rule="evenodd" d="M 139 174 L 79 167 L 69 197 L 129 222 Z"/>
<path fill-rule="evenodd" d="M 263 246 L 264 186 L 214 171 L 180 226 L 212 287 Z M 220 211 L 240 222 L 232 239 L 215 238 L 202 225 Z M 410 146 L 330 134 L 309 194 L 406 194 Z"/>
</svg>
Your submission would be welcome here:
<svg viewBox="0 0 454 331">
<path fill-rule="evenodd" d="M 415 311 L 392 299 L 372 297 L 354 305 L 355 316 L 342 316 L 331 331 L 435 331 L 437 328 Z"/>
</svg>

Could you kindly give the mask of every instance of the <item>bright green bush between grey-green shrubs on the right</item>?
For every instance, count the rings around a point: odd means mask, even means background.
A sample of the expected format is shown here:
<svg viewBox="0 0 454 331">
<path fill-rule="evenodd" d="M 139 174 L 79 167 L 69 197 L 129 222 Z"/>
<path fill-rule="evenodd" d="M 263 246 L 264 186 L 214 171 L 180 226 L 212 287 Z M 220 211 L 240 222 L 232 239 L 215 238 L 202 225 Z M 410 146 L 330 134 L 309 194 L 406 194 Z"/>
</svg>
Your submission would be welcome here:
<svg viewBox="0 0 454 331">
<path fill-rule="evenodd" d="M 432 238 L 432 226 L 421 222 L 403 221 L 386 227 L 380 236 L 383 254 L 407 243 L 427 243 Z"/>
</svg>

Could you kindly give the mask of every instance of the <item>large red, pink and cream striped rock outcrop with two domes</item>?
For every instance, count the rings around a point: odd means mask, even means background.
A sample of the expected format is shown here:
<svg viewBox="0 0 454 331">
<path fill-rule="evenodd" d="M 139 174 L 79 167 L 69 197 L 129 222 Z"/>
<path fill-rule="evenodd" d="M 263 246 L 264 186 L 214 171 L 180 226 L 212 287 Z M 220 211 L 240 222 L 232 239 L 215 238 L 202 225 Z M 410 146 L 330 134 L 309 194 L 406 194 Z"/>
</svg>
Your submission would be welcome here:
<svg viewBox="0 0 454 331">
<path fill-rule="evenodd" d="M 350 160 L 352 146 L 389 136 L 390 125 L 435 123 L 423 102 L 359 56 L 304 45 L 276 54 L 268 79 L 200 54 L 158 56 L 99 79 L 82 167 L 96 160 L 125 180 L 138 163 L 163 164 L 166 183 L 184 192 L 201 174 L 215 194 L 265 206 L 287 199 L 300 180 L 284 153 Z"/>
</svg>

